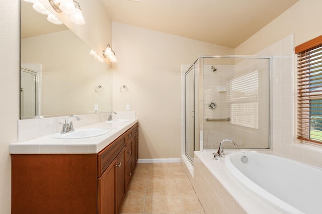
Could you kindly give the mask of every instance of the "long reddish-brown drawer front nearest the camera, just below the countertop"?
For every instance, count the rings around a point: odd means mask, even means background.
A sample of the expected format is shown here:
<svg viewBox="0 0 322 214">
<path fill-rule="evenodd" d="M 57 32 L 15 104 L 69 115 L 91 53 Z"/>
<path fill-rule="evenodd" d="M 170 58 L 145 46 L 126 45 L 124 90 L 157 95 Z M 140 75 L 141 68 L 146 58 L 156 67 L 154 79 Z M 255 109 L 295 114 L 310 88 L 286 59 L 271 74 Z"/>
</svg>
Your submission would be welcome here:
<svg viewBox="0 0 322 214">
<path fill-rule="evenodd" d="M 103 174 L 124 146 L 125 135 L 123 134 L 97 154 L 97 177 Z"/>
</svg>

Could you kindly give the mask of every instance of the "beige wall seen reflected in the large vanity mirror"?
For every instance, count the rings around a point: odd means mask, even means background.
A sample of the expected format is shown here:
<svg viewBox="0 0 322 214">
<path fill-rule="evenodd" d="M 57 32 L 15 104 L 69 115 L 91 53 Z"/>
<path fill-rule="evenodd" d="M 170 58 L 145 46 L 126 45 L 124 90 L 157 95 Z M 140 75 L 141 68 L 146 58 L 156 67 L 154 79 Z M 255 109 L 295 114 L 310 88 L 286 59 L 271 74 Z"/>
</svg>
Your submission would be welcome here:
<svg viewBox="0 0 322 214">
<path fill-rule="evenodd" d="M 112 69 L 90 51 L 70 30 L 21 40 L 21 63 L 42 64 L 42 115 L 89 114 L 94 104 L 111 111 Z"/>
</svg>

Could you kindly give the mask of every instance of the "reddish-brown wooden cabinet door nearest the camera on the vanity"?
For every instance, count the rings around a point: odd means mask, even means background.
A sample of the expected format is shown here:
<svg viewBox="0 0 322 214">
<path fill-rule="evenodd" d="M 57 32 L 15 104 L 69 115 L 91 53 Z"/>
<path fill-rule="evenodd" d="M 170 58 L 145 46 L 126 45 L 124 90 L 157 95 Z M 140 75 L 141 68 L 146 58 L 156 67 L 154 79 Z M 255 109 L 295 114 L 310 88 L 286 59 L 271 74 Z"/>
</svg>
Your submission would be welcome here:
<svg viewBox="0 0 322 214">
<path fill-rule="evenodd" d="M 98 178 L 98 214 L 115 214 L 116 159 Z"/>
</svg>

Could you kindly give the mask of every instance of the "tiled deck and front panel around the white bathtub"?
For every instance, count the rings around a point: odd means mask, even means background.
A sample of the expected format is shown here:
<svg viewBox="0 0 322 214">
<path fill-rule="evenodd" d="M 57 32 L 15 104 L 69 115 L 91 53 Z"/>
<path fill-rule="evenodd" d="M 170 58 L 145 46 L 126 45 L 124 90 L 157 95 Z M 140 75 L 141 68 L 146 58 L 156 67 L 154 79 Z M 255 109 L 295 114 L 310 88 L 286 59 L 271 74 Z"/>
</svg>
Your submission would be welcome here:
<svg viewBox="0 0 322 214">
<path fill-rule="evenodd" d="M 224 158 L 212 157 L 212 152 L 195 152 L 194 157 L 193 186 L 206 213 L 281 213 L 239 183 Z"/>
</svg>

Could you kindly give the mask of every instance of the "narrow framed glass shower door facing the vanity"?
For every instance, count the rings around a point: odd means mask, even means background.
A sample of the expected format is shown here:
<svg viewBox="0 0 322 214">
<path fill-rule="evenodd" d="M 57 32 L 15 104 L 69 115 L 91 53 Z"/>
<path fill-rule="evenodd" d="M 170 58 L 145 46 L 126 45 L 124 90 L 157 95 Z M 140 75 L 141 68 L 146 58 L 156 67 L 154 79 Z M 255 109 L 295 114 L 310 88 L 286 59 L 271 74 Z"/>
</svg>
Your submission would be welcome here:
<svg viewBox="0 0 322 214">
<path fill-rule="evenodd" d="M 195 151 L 195 83 L 193 66 L 186 72 L 185 76 L 185 99 L 186 99 L 186 156 L 193 162 Z"/>
</svg>

